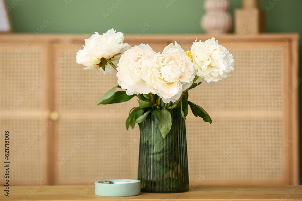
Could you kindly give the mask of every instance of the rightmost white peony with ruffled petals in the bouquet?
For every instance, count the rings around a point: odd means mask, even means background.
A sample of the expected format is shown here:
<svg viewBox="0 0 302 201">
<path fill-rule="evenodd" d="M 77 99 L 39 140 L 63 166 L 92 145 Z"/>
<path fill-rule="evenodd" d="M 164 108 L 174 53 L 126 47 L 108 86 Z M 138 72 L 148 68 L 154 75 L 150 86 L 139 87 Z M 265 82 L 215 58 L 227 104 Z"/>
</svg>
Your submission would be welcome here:
<svg viewBox="0 0 302 201">
<path fill-rule="evenodd" d="M 211 82 L 229 77 L 234 70 L 233 56 L 215 38 L 205 42 L 196 39 L 191 47 L 191 57 L 196 74 L 211 86 L 214 84 Z"/>
</svg>

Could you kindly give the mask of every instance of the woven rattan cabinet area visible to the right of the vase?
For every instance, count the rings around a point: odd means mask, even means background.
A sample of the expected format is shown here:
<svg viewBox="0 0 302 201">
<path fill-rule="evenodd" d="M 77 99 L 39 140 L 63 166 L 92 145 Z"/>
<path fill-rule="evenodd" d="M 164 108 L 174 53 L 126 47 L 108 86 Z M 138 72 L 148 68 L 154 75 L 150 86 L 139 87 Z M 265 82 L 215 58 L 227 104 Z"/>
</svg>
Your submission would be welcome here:
<svg viewBox="0 0 302 201">
<path fill-rule="evenodd" d="M 188 115 L 191 180 L 203 175 L 205 184 L 289 184 L 288 46 L 236 43 L 232 76 L 191 91 L 189 101 L 213 120 L 210 125 Z"/>
</svg>

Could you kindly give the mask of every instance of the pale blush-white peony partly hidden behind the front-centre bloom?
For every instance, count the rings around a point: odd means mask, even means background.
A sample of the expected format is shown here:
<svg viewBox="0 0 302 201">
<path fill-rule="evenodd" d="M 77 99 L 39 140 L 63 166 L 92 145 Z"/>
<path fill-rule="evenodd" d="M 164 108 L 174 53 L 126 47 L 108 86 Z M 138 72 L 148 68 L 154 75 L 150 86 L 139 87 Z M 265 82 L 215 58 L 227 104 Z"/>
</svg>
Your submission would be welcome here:
<svg viewBox="0 0 302 201">
<path fill-rule="evenodd" d="M 127 50 L 117 64 L 117 83 L 127 90 L 127 95 L 147 94 L 150 90 L 146 81 L 142 80 L 142 68 L 156 52 L 149 45 L 140 44 Z"/>
</svg>

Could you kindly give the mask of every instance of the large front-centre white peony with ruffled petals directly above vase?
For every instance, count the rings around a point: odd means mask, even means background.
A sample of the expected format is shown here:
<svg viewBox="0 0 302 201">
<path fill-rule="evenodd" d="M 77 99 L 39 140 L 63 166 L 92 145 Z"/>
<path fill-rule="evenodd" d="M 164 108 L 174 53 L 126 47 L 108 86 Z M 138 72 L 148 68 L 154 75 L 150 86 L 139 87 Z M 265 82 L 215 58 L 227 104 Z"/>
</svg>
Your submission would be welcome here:
<svg viewBox="0 0 302 201">
<path fill-rule="evenodd" d="M 143 68 L 142 78 L 164 103 L 176 102 L 193 83 L 195 70 L 185 51 L 175 42 L 155 55 Z"/>
</svg>

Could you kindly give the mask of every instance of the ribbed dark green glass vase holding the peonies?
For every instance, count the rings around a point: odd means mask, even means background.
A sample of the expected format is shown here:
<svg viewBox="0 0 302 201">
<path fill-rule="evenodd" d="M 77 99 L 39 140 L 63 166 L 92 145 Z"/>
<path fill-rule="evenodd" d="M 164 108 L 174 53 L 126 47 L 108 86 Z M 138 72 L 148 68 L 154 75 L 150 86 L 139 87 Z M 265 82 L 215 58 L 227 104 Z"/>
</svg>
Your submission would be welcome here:
<svg viewBox="0 0 302 201">
<path fill-rule="evenodd" d="M 140 129 L 138 180 L 141 191 L 179 193 L 189 190 L 185 120 L 180 109 L 169 110 L 172 128 L 165 138 L 151 113 Z"/>
</svg>

